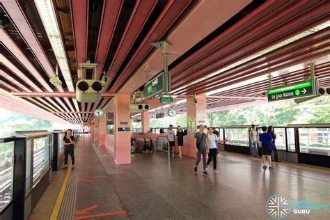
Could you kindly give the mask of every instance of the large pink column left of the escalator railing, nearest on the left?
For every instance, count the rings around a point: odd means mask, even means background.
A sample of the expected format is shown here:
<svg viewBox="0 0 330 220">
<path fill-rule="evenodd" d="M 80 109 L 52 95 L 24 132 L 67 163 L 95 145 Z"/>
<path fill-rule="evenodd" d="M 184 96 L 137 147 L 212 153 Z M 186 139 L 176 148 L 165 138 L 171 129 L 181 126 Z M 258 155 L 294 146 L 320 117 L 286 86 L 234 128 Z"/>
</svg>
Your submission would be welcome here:
<svg viewBox="0 0 330 220">
<path fill-rule="evenodd" d="M 131 164 L 131 132 L 129 131 L 131 116 L 128 109 L 129 102 L 129 94 L 118 94 L 114 98 L 114 160 L 116 164 Z"/>
</svg>

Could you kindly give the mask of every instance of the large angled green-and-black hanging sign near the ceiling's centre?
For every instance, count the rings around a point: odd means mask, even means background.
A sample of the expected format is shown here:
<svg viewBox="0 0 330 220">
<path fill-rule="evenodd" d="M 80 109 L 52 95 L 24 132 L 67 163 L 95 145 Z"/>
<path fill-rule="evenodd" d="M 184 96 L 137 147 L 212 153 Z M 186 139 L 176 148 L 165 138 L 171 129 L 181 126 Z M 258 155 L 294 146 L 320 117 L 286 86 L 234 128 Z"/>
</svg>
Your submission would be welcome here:
<svg viewBox="0 0 330 220">
<path fill-rule="evenodd" d="M 164 72 L 160 73 L 155 79 L 152 79 L 144 86 L 144 98 L 148 99 L 164 93 L 165 90 L 165 80 Z"/>
</svg>

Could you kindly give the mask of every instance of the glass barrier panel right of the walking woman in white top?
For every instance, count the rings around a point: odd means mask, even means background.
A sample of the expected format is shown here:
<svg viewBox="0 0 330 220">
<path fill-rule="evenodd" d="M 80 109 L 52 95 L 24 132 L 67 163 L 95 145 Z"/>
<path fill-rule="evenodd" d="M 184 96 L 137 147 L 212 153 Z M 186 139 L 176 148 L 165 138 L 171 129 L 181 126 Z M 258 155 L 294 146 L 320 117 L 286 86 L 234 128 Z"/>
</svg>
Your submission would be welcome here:
<svg viewBox="0 0 330 220">
<path fill-rule="evenodd" d="M 249 129 L 225 128 L 225 135 L 229 139 L 226 144 L 249 147 Z"/>
</svg>

